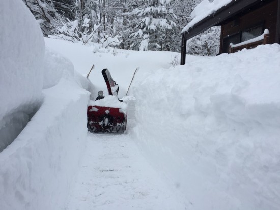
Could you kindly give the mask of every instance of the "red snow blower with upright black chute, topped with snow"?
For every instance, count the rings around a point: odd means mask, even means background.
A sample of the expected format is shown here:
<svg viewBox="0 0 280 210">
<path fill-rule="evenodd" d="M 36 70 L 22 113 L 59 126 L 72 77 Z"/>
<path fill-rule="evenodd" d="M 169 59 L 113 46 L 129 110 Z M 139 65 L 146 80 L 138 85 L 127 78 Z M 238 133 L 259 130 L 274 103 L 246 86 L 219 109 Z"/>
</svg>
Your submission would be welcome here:
<svg viewBox="0 0 280 210">
<path fill-rule="evenodd" d="M 98 92 L 95 101 L 88 106 L 88 130 L 91 132 L 123 133 L 126 129 L 126 104 L 118 99 L 119 86 L 112 79 L 108 69 L 102 70 L 108 89 L 108 96 Z"/>
</svg>

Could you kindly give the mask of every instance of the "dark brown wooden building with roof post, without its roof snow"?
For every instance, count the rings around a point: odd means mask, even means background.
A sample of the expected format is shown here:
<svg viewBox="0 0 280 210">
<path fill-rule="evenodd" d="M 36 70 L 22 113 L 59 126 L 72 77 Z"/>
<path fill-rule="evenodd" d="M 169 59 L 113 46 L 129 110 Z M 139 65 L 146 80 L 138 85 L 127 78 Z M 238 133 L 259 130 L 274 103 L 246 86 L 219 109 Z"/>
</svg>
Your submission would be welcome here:
<svg viewBox="0 0 280 210">
<path fill-rule="evenodd" d="M 220 53 L 229 53 L 230 43 L 236 49 L 253 48 L 259 44 L 280 44 L 280 0 L 233 0 L 182 33 L 181 65 L 185 64 L 186 42 L 212 26 L 221 26 Z M 259 37 L 268 29 L 269 35 L 251 45 L 244 41 Z M 266 30 L 267 31 L 267 30 Z M 234 52 L 237 50 L 231 50 Z"/>
</svg>

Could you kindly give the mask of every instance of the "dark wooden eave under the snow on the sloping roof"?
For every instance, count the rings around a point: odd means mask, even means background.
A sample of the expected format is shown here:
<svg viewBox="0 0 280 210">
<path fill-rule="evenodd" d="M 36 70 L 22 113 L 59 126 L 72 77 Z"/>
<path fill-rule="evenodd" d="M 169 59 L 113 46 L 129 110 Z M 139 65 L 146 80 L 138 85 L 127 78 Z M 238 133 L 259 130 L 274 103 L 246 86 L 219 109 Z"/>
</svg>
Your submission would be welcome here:
<svg viewBox="0 0 280 210">
<path fill-rule="evenodd" d="M 272 0 L 237 0 L 232 1 L 228 5 L 223 6 L 219 10 L 215 11 L 211 15 L 207 16 L 203 20 L 194 24 L 193 27 L 188 29 L 188 32 L 183 32 L 183 40 L 188 40 L 210 27 L 223 25 L 229 21 L 235 19 L 235 17 L 246 11 L 253 10 L 256 7 L 267 4 Z M 278 0 L 279 2 L 279 0 Z"/>
</svg>

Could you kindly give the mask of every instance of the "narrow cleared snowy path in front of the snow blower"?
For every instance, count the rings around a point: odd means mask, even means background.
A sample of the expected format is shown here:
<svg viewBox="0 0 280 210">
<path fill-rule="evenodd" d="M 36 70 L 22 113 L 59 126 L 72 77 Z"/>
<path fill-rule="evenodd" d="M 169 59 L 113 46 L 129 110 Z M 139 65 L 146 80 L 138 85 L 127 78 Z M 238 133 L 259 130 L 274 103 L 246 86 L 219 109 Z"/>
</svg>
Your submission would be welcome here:
<svg viewBox="0 0 280 210">
<path fill-rule="evenodd" d="M 131 128 L 133 120 L 128 122 Z M 66 209 L 185 209 L 128 132 L 88 134 Z"/>
</svg>

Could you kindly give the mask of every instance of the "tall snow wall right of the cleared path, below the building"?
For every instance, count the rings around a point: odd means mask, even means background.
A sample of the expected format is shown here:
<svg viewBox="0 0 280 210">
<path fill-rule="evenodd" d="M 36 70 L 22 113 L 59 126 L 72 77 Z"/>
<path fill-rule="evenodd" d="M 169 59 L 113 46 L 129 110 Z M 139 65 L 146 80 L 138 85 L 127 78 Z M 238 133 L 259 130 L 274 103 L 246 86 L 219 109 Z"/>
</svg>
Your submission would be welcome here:
<svg viewBox="0 0 280 210">
<path fill-rule="evenodd" d="M 280 46 L 187 56 L 133 89 L 135 139 L 188 209 L 280 206 Z"/>
</svg>

